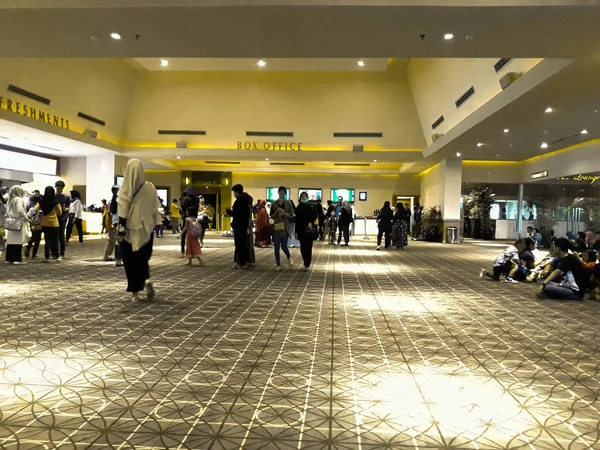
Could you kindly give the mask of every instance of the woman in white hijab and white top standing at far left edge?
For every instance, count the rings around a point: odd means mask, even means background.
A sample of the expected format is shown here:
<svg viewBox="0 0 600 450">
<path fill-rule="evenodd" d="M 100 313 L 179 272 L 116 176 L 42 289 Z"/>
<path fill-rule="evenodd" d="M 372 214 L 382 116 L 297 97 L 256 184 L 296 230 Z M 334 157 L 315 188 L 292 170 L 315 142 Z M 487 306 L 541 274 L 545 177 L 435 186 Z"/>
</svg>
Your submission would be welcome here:
<svg viewBox="0 0 600 450">
<path fill-rule="evenodd" d="M 12 227 L 9 229 L 8 221 L 6 226 L 6 255 L 7 264 L 25 264 L 23 262 L 23 243 L 27 242 L 27 212 L 25 211 L 25 202 L 23 196 L 25 189 L 21 186 L 13 186 L 8 191 L 8 201 L 6 202 L 6 215 L 11 220 Z M 20 224 L 20 227 L 19 227 Z M 19 228 L 18 230 L 16 228 Z"/>
</svg>

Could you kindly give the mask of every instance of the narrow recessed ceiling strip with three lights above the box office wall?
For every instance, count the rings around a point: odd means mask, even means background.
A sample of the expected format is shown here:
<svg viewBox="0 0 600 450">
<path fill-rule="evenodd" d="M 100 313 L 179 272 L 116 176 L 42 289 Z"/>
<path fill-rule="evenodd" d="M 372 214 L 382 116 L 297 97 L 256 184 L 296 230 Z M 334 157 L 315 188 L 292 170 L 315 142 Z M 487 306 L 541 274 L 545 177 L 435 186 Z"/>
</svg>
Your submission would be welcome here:
<svg viewBox="0 0 600 450">
<path fill-rule="evenodd" d="M 266 66 L 260 67 L 256 58 L 165 58 L 166 67 L 161 66 L 161 58 L 134 58 L 146 70 L 157 72 L 384 72 L 387 58 L 348 59 L 348 58 L 264 58 Z M 364 66 L 358 65 L 363 61 Z"/>
</svg>

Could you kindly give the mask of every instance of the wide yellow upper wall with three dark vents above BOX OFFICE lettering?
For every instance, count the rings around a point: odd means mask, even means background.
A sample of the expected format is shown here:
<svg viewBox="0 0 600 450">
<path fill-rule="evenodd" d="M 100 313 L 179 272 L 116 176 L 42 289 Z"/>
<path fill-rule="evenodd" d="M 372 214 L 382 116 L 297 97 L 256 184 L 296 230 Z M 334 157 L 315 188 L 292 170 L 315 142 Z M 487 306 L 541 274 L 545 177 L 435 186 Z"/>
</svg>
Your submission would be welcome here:
<svg viewBox="0 0 600 450">
<path fill-rule="evenodd" d="M 421 148 L 425 141 L 401 71 L 139 72 L 129 116 L 132 143 L 184 139 L 232 148 L 250 131 L 291 131 L 308 147 L 353 143 Z M 159 129 L 200 129 L 207 136 L 158 136 Z M 339 139 L 333 132 L 383 132 L 383 139 Z M 248 139 L 264 141 L 265 139 Z M 273 138 L 267 140 L 272 141 Z"/>
</svg>

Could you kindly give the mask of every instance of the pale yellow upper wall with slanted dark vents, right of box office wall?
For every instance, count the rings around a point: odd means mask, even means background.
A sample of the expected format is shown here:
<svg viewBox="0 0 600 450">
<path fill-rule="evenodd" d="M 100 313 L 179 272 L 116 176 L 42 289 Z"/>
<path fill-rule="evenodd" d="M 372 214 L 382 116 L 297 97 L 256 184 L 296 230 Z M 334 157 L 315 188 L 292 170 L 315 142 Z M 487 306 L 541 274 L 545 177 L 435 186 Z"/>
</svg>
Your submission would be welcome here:
<svg viewBox="0 0 600 450">
<path fill-rule="evenodd" d="M 509 72 L 527 72 L 541 59 L 513 59 L 499 73 L 494 70 L 498 58 L 412 59 L 407 74 L 425 139 L 431 144 L 434 133 L 452 129 L 479 107 L 502 92 L 498 80 Z M 460 108 L 454 102 L 471 86 L 475 94 Z M 431 125 L 443 115 L 444 122 Z"/>
</svg>

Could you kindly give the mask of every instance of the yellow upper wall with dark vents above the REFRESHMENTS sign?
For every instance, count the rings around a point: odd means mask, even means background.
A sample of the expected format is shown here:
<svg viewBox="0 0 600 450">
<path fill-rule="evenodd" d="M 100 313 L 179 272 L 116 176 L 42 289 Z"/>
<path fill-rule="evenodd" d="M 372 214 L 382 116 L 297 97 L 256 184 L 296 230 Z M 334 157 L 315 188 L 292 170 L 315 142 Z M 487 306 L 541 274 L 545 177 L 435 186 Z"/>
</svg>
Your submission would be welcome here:
<svg viewBox="0 0 600 450">
<path fill-rule="evenodd" d="M 91 128 L 98 138 L 118 142 L 125 132 L 134 70 L 112 59 L 0 59 L 0 95 L 69 119 L 70 129 Z M 12 84 L 51 100 L 44 105 L 14 92 Z M 106 126 L 77 117 L 83 112 Z"/>
</svg>

